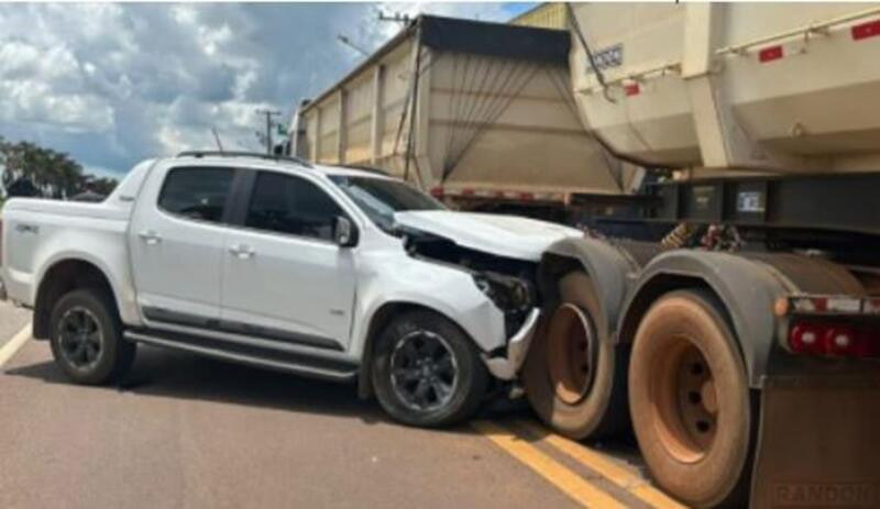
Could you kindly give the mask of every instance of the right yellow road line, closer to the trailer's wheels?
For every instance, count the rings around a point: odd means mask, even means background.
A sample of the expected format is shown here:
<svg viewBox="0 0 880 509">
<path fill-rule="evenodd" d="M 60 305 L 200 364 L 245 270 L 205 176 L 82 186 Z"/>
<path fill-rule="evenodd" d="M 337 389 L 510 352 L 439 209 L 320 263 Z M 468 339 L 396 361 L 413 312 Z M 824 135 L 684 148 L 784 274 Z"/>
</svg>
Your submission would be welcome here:
<svg viewBox="0 0 880 509">
<path fill-rule="evenodd" d="M 540 436 L 540 442 L 562 451 L 587 468 L 631 493 L 640 500 L 648 502 L 651 507 L 658 509 L 686 509 L 686 506 L 681 505 L 659 489 L 650 486 L 635 468 L 615 462 L 606 455 L 593 451 L 573 440 L 551 433 L 532 422 L 517 420 L 516 425 L 528 430 L 536 436 Z"/>
</svg>

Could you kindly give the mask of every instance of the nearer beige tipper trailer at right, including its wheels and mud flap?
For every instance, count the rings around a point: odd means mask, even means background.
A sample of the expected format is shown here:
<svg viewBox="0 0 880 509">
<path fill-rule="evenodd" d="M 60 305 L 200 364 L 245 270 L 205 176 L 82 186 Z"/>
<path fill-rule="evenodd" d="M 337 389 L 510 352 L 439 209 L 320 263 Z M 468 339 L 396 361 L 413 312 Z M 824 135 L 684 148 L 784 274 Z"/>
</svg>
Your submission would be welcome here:
<svg viewBox="0 0 880 509">
<path fill-rule="evenodd" d="M 695 507 L 880 507 L 880 8 L 574 4 L 584 126 L 661 243 L 566 240 L 522 374 Z"/>
</svg>

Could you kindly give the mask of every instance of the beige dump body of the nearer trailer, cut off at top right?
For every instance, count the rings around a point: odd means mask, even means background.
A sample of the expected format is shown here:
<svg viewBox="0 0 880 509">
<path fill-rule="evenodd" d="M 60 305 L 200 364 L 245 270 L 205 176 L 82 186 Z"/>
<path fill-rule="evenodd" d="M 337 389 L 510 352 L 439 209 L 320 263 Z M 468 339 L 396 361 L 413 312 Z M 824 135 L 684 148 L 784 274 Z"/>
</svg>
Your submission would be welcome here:
<svg viewBox="0 0 880 509">
<path fill-rule="evenodd" d="M 573 5 L 586 128 L 652 166 L 880 168 L 880 5 Z M 590 55 L 587 55 L 587 48 Z M 592 56 L 592 58 L 591 58 Z"/>
</svg>

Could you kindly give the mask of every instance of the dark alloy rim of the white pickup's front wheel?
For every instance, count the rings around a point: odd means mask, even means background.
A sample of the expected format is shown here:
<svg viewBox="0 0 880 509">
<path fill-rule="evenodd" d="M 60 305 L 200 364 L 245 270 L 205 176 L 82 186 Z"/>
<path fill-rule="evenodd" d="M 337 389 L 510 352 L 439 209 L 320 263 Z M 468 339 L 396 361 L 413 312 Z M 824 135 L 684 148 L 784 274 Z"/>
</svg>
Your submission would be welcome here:
<svg viewBox="0 0 880 509">
<path fill-rule="evenodd" d="M 452 347 L 439 334 L 415 331 L 398 340 L 391 357 L 392 387 L 408 408 L 431 411 L 455 394 L 459 369 Z"/>
</svg>

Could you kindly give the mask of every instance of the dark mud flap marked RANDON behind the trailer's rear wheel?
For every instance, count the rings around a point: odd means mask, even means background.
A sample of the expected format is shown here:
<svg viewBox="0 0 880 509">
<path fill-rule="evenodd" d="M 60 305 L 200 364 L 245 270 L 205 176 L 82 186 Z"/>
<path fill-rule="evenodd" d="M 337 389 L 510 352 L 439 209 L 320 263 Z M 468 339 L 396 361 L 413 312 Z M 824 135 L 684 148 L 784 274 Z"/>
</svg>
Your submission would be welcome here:
<svg viewBox="0 0 880 509">
<path fill-rule="evenodd" d="M 880 370 L 769 379 L 760 416 L 751 507 L 880 507 Z"/>
</svg>

